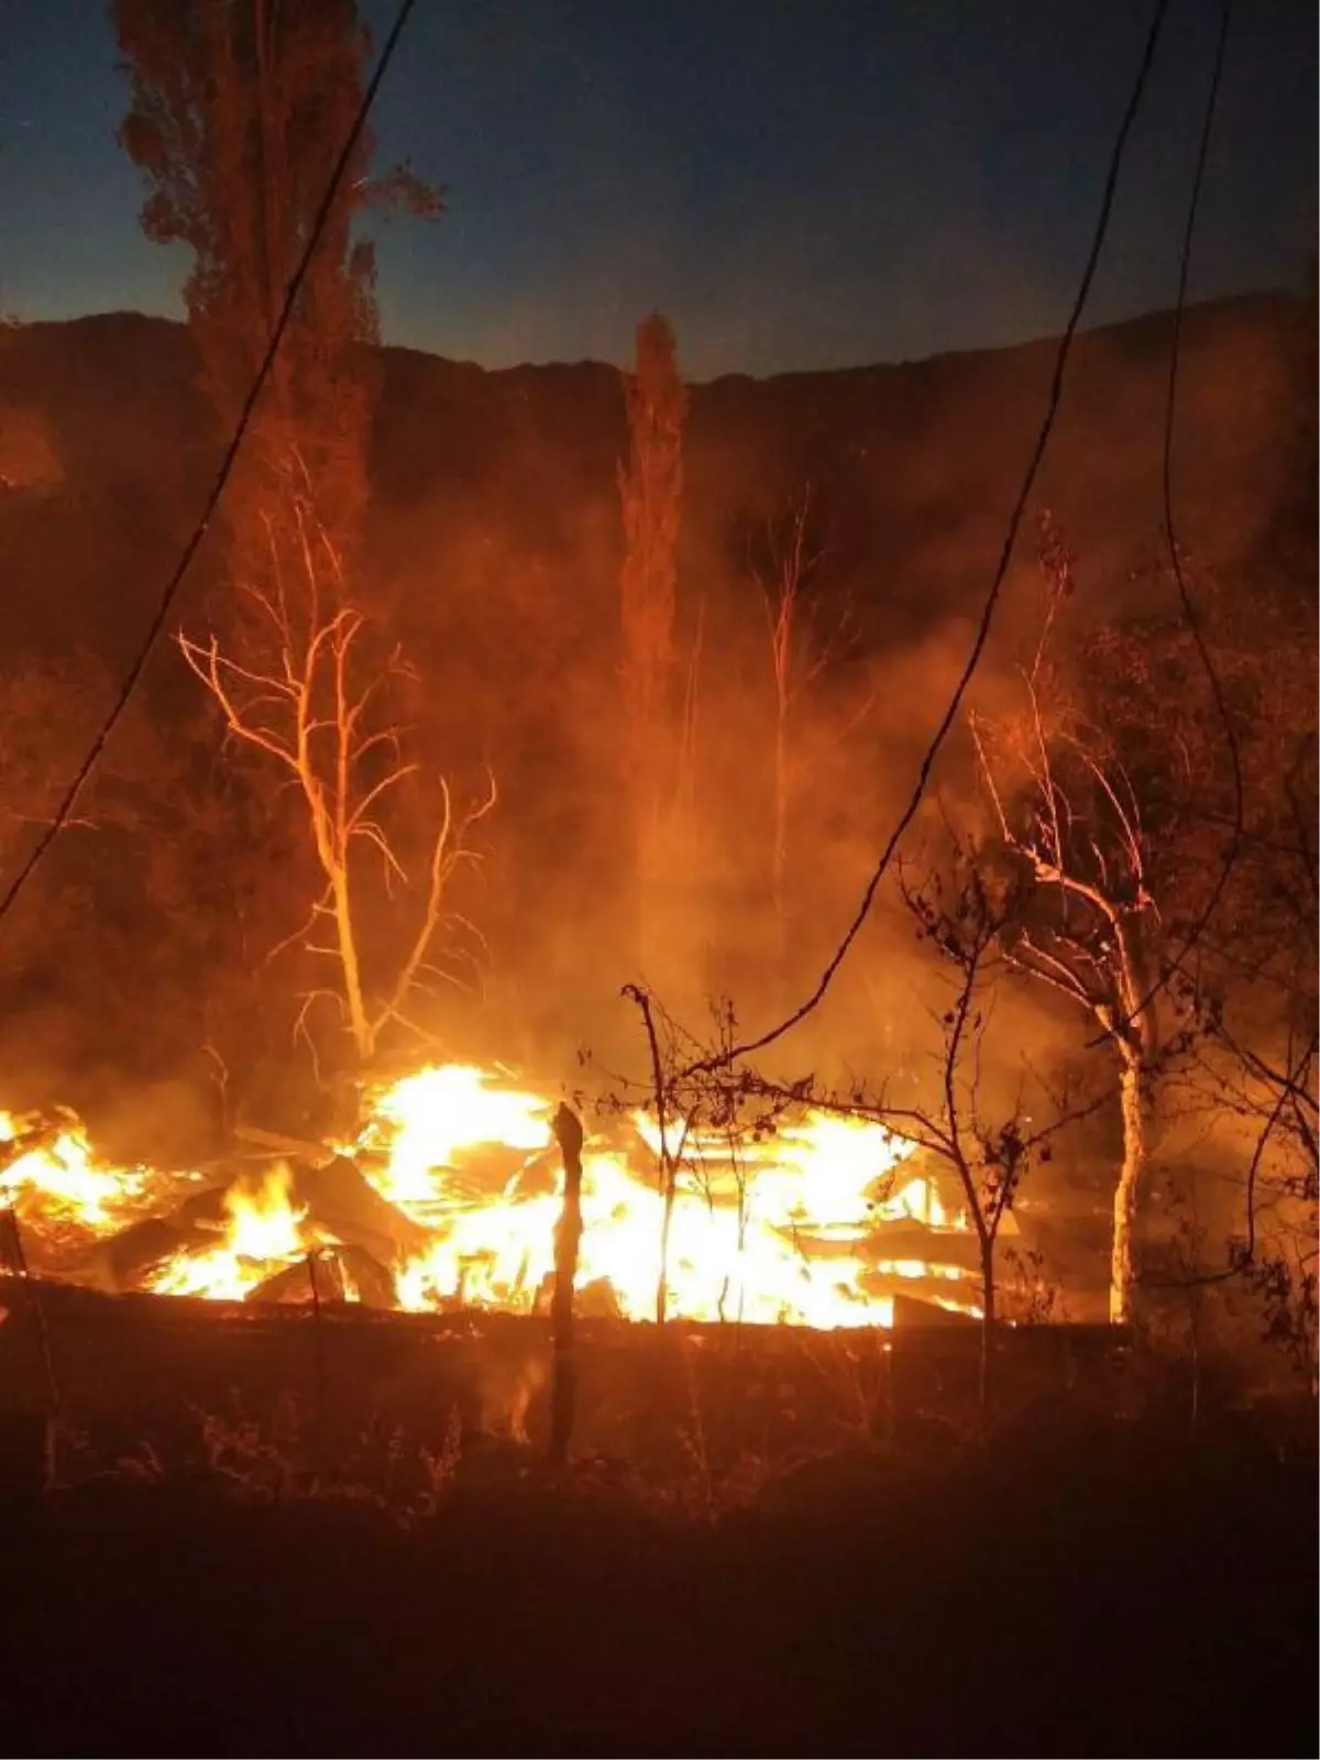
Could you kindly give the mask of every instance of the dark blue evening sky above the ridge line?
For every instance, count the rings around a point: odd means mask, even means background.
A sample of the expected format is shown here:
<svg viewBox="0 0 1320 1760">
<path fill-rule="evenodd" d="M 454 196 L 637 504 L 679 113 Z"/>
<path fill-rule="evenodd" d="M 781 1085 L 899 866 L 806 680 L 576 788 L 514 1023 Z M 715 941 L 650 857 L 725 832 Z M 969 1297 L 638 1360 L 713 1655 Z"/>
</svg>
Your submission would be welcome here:
<svg viewBox="0 0 1320 1760">
<path fill-rule="evenodd" d="M 368 0 L 373 21 L 392 0 Z M 449 216 L 380 243 L 387 340 L 693 377 L 1058 331 L 1151 0 L 419 0 L 382 155 Z M 1195 296 L 1320 241 L 1320 0 L 1239 0 Z M 1216 0 L 1174 0 L 1091 322 L 1170 303 Z M 136 224 L 102 0 L 0 0 L 0 306 L 176 312 Z"/>
</svg>

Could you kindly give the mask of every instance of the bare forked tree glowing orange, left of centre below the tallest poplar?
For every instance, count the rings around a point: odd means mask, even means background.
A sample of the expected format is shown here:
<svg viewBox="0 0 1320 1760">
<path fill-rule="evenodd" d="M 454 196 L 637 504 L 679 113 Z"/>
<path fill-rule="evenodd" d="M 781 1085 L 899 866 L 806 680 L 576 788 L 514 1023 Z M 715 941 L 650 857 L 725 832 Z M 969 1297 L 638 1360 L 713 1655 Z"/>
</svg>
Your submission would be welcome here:
<svg viewBox="0 0 1320 1760">
<path fill-rule="evenodd" d="M 181 648 L 215 697 L 227 732 L 273 759 L 296 787 L 324 882 L 299 940 L 336 968 L 333 989 L 320 986 L 304 998 L 299 1024 L 306 1033 L 313 1005 L 333 998 L 361 1067 L 371 1063 L 387 1028 L 415 1030 L 410 998 L 428 979 L 447 975 L 438 964 L 444 931 L 456 922 L 447 889 L 470 855 L 468 832 L 495 806 L 495 783 L 479 804 L 461 811 L 449 783 L 438 780 L 424 878 L 412 887 L 417 919 L 401 942 L 394 940 L 389 970 L 371 982 L 363 950 L 363 894 L 371 882 L 363 859 L 373 859 L 377 885 L 385 892 L 384 915 L 396 920 L 391 899 L 394 889 L 408 891 L 408 875 L 387 829 L 387 810 L 417 764 L 405 760 L 403 729 L 382 700 L 391 669 L 400 669 L 398 655 L 382 667 L 364 653 L 368 623 L 347 598 L 334 544 L 313 523 L 310 507 L 296 507 L 294 517 L 297 579 L 285 583 L 276 570 L 275 591 L 250 588 L 273 655 L 269 665 L 257 669 L 229 656 L 216 637 L 199 642 L 183 635 Z"/>
</svg>

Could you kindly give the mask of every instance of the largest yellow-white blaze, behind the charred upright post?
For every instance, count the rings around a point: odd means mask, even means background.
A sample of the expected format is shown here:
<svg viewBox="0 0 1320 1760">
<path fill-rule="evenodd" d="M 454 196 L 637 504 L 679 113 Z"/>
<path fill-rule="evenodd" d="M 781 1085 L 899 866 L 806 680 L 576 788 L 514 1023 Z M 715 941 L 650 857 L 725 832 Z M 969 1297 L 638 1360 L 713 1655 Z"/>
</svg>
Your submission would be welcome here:
<svg viewBox="0 0 1320 1760">
<path fill-rule="evenodd" d="M 435 1239 L 398 1274 L 400 1306 L 537 1304 L 554 1262 L 558 1195 L 524 1174 L 551 1144 L 551 1102 L 488 1086 L 468 1067 L 424 1070 L 387 1089 L 364 1140 L 384 1162 L 370 1174 Z M 653 1119 L 632 1128 L 651 1156 Z M 523 1151 L 496 1192 L 466 1193 L 465 1156 L 500 1144 Z M 665 1267 L 667 1309 L 690 1320 L 741 1318 L 810 1327 L 892 1325 L 892 1278 L 961 1280 L 957 1267 L 885 1260 L 861 1250 L 884 1221 L 952 1228 L 924 1179 L 889 1192 L 912 1146 L 868 1119 L 810 1111 L 776 1137 L 737 1144 L 688 1133 Z M 639 1169 L 607 1140 L 590 1140 L 583 1179 L 579 1287 L 607 1287 L 632 1320 L 655 1315 L 664 1199 L 653 1165 Z M 973 1302 L 957 1306 L 972 1308 Z"/>
</svg>

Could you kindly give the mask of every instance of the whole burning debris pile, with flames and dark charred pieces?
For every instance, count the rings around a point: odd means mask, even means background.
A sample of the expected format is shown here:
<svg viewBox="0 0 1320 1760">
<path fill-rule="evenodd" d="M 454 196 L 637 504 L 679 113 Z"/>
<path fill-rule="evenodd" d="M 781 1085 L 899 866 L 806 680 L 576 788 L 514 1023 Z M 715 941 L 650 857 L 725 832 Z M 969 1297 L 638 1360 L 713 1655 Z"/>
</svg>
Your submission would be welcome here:
<svg viewBox="0 0 1320 1760">
<path fill-rule="evenodd" d="M 0 1112 L 9 1271 L 106 1292 L 539 1311 L 554 1264 L 554 1102 L 472 1065 L 371 1096 L 354 1144 L 222 1176 L 102 1165 L 76 1118 Z M 646 1320 L 660 1278 L 658 1137 L 642 1112 L 588 1137 L 579 1304 Z M 690 1132 L 669 1313 L 892 1325 L 903 1292 L 977 1313 L 966 1218 L 912 1146 L 813 1109 L 773 1135 Z M 21 1255 L 21 1264 L 19 1264 Z"/>
</svg>

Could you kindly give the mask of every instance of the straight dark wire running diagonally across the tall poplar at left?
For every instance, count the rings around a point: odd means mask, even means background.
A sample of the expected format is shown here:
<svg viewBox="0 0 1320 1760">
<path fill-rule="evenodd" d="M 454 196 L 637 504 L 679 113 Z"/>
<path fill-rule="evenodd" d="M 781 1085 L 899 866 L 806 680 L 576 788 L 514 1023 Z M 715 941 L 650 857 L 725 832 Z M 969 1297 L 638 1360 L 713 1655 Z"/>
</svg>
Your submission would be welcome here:
<svg viewBox="0 0 1320 1760">
<path fill-rule="evenodd" d="M 215 519 L 216 509 L 220 507 L 220 500 L 225 493 L 225 488 L 229 486 L 229 479 L 234 473 L 234 465 L 238 463 L 238 454 L 243 445 L 243 438 L 252 422 L 253 410 L 257 408 L 257 400 L 266 389 L 266 380 L 271 377 L 271 368 L 275 366 L 275 357 L 280 352 L 280 343 L 283 341 L 283 334 L 289 329 L 289 320 L 294 313 L 294 306 L 297 304 L 297 296 L 303 292 L 303 282 L 306 280 L 308 269 L 312 268 L 312 259 L 315 255 L 317 245 L 320 243 L 320 236 L 326 231 L 326 222 L 329 220 L 331 209 L 334 208 L 334 201 L 340 194 L 340 187 L 345 180 L 348 165 L 352 164 L 352 157 L 357 151 L 357 144 L 363 139 L 363 130 L 366 128 L 368 118 L 371 114 L 371 106 L 375 104 L 377 92 L 380 90 L 380 83 L 385 77 L 385 70 L 394 56 L 394 49 L 398 48 L 400 37 L 403 35 L 403 26 L 408 23 L 408 14 L 412 12 L 414 5 L 415 0 L 401 0 L 400 4 L 394 25 L 391 26 L 389 37 L 385 39 L 385 46 L 380 51 L 380 60 L 377 62 L 375 72 L 371 74 L 366 92 L 363 93 L 363 102 L 357 107 L 357 116 L 354 118 L 354 125 L 348 130 L 348 137 L 345 139 L 340 157 L 334 164 L 334 171 L 331 172 L 331 180 L 329 185 L 326 187 L 320 208 L 317 209 L 317 215 L 312 222 L 312 232 L 308 236 L 306 248 L 303 250 L 297 268 L 294 269 L 292 280 L 289 282 L 289 290 L 285 292 L 283 308 L 275 324 L 275 329 L 271 331 L 271 340 L 266 345 L 266 354 L 262 357 L 260 368 L 257 370 L 257 377 L 252 382 L 252 389 L 248 391 L 243 401 L 243 410 L 239 414 L 234 436 L 229 442 L 225 454 L 220 461 L 220 470 L 216 472 L 215 482 L 211 484 L 211 493 L 206 496 L 206 503 L 197 519 L 197 524 L 192 530 L 192 537 L 183 546 L 183 554 L 180 556 L 178 567 L 174 568 L 174 574 L 171 576 L 169 584 L 165 586 L 165 591 L 160 597 L 160 604 L 157 607 L 155 616 L 151 618 L 151 625 L 146 632 L 146 637 L 123 678 L 123 685 L 120 686 L 120 693 L 114 700 L 114 706 L 106 716 L 100 732 L 93 739 L 86 759 L 77 767 L 74 780 L 65 788 L 65 794 L 55 811 L 55 818 L 49 822 L 49 825 L 46 825 L 40 838 L 37 840 L 35 848 L 32 850 L 26 862 L 9 885 L 9 891 L 0 899 L 0 922 L 4 922 L 4 919 L 12 910 L 19 894 L 23 892 L 33 871 L 37 869 L 37 864 L 49 850 L 51 843 L 55 843 L 56 836 L 69 824 L 69 815 L 77 804 L 77 797 L 86 787 L 92 771 L 100 762 L 106 744 L 109 743 L 109 737 L 114 732 L 114 729 L 118 727 L 123 711 L 128 708 L 128 700 L 132 699 L 132 693 L 137 688 L 137 683 L 146 669 L 146 662 L 151 658 L 151 651 L 169 620 L 169 614 L 174 607 L 174 600 L 180 595 L 180 588 L 183 586 L 188 568 L 192 567 L 192 561 L 202 546 L 202 539 L 211 528 L 211 521 Z"/>
</svg>

